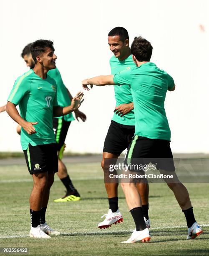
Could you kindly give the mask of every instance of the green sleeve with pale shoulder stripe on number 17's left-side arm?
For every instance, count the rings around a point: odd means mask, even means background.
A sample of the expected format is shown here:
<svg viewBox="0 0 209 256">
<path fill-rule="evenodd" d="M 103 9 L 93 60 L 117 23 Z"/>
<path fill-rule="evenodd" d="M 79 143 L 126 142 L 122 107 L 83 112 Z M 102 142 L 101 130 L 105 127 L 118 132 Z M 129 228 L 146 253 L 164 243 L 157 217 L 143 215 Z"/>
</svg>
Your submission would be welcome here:
<svg viewBox="0 0 209 256">
<path fill-rule="evenodd" d="M 12 102 L 15 105 L 18 105 L 20 100 L 22 100 L 22 98 L 29 92 L 30 79 L 25 78 L 24 76 L 19 77 L 13 85 L 13 89 L 10 92 L 8 101 Z"/>
</svg>

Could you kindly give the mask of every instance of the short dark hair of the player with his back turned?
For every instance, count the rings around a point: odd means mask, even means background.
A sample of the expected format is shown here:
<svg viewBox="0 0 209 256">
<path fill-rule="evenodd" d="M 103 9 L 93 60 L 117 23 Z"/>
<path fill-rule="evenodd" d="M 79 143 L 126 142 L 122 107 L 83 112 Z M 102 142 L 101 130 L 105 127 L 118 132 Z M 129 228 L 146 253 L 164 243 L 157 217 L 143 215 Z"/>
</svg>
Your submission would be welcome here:
<svg viewBox="0 0 209 256">
<path fill-rule="evenodd" d="M 138 61 L 150 61 L 153 47 L 150 42 L 142 36 L 135 37 L 131 44 L 131 54 L 133 54 Z"/>
</svg>

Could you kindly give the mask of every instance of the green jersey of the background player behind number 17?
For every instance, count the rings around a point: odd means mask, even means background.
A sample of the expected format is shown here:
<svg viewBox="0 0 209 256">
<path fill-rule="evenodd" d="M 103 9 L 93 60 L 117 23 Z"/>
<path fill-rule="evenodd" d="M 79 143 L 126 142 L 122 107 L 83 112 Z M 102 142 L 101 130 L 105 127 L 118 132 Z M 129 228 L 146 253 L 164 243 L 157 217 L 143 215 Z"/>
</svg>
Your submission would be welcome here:
<svg viewBox="0 0 209 256">
<path fill-rule="evenodd" d="M 67 88 L 65 87 L 65 84 L 63 83 L 63 79 L 61 77 L 61 74 L 57 68 L 51 69 L 47 73 L 51 78 L 55 79 L 55 82 L 57 84 L 57 100 L 58 105 L 60 107 L 66 107 L 71 105 L 71 99 L 69 98 Z M 75 120 L 73 118 L 73 113 L 70 113 L 68 115 L 64 115 L 63 117 L 65 121 L 70 122 L 72 120 Z"/>
</svg>

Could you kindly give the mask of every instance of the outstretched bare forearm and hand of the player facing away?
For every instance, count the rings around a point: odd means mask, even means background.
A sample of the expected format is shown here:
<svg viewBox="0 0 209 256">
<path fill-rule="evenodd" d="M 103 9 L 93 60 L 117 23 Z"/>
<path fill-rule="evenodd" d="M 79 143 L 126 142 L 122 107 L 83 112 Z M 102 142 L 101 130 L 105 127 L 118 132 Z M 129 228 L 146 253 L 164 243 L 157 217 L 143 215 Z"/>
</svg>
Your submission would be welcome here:
<svg viewBox="0 0 209 256">
<path fill-rule="evenodd" d="M 91 88 L 93 84 L 96 86 L 113 85 L 113 77 L 113 75 L 108 75 L 88 78 L 82 81 L 82 86 L 85 90 L 89 90 L 87 86 L 88 84 L 91 85 Z"/>
</svg>

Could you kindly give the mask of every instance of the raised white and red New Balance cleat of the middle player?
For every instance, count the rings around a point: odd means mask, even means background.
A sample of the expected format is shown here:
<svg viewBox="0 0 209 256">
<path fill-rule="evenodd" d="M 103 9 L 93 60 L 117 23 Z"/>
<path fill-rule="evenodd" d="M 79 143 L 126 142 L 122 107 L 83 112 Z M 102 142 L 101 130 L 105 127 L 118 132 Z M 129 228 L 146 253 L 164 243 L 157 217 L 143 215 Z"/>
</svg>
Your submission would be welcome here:
<svg viewBox="0 0 209 256">
<path fill-rule="evenodd" d="M 123 222 L 123 216 L 119 209 L 117 212 L 112 212 L 111 209 L 108 210 L 107 214 L 104 214 L 101 218 L 105 217 L 105 219 L 98 224 L 98 228 L 109 228 L 112 224 L 117 224 Z"/>
</svg>

